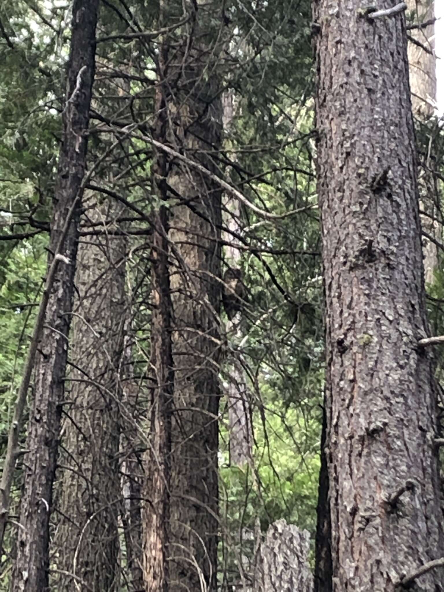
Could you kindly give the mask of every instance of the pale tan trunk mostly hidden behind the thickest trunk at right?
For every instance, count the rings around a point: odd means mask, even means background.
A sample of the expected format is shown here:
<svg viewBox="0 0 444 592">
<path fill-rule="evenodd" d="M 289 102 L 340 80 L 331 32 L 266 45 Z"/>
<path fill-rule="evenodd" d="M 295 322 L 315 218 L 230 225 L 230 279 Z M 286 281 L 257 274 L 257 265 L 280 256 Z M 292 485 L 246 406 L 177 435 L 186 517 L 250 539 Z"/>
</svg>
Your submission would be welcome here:
<svg viewBox="0 0 444 592">
<path fill-rule="evenodd" d="M 433 0 L 407 0 L 409 11 L 414 12 L 416 24 L 432 21 L 435 17 L 435 2 Z M 421 46 L 410 41 L 408 43 L 408 66 L 410 75 L 411 102 L 414 115 L 420 120 L 435 114 L 433 104 L 436 103 L 436 54 L 435 54 L 435 24 L 428 27 L 409 31 L 410 36 L 419 41 Z M 425 48 L 425 49 L 424 49 Z M 439 236 L 440 225 L 436 224 L 427 214 L 433 215 L 433 193 L 425 191 L 421 195 L 420 206 L 426 215 L 421 216 L 423 230 L 432 236 Z M 424 278 L 426 284 L 433 283 L 433 272 L 438 265 L 436 244 L 427 237 L 423 238 Z"/>
</svg>

